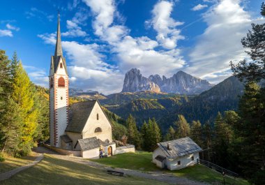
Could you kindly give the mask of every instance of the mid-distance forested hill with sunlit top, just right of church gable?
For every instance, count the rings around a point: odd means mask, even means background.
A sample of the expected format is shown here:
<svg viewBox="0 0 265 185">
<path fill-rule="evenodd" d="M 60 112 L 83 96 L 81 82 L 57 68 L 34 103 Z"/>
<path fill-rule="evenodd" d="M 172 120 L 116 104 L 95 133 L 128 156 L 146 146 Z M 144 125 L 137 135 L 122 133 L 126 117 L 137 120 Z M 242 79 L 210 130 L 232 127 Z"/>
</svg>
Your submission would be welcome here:
<svg viewBox="0 0 265 185">
<path fill-rule="evenodd" d="M 148 121 L 149 118 L 155 117 L 160 119 L 166 115 L 171 108 L 182 105 L 188 101 L 187 96 L 174 96 L 160 99 L 136 99 L 129 103 L 120 106 L 109 106 L 107 109 L 118 114 L 126 119 L 129 114 L 132 114 L 137 121 L 137 125 L 141 126 L 144 121 Z"/>
</svg>

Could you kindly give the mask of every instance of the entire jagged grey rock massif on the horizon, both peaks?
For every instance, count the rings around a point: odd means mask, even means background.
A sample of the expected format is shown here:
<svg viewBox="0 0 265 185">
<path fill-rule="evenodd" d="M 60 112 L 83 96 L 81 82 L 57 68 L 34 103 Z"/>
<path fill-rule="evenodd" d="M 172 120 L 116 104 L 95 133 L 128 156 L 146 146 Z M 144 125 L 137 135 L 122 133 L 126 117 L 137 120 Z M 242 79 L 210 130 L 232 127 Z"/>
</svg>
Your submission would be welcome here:
<svg viewBox="0 0 265 185">
<path fill-rule="evenodd" d="M 176 94 L 200 94 L 213 87 L 213 84 L 179 71 L 172 77 L 150 75 L 142 77 L 137 68 L 132 68 L 126 73 L 122 92 L 156 91 Z"/>
</svg>

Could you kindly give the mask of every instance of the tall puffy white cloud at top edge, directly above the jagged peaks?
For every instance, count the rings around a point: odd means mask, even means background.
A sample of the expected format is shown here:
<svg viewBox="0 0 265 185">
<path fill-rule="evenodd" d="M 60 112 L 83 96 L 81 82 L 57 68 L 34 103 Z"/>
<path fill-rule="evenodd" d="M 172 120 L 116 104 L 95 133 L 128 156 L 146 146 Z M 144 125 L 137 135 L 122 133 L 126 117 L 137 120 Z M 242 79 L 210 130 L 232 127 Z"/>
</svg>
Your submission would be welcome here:
<svg viewBox="0 0 265 185">
<path fill-rule="evenodd" d="M 174 3 L 171 1 L 159 1 L 152 10 L 152 20 L 147 23 L 153 26 L 158 33 L 156 39 L 166 49 L 174 49 L 177 41 L 184 39 L 181 36 L 181 31 L 176 29 L 177 26 L 183 22 L 176 22 L 170 17 L 173 10 Z"/>
</svg>

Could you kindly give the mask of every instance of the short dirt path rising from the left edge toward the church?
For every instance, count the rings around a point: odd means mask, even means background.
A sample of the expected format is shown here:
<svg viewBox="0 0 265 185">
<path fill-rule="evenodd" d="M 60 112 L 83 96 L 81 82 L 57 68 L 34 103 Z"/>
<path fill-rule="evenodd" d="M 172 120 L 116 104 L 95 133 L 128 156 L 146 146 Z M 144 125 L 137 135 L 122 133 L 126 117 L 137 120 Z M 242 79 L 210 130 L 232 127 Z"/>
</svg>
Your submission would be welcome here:
<svg viewBox="0 0 265 185">
<path fill-rule="evenodd" d="M 17 174 L 18 172 L 21 172 L 22 170 L 25 170 L 27 168 L 30 168 L 33 165 L 36 165 L 39 163 L 41 160 L 43 160 L 43 154 L 39 154 L 38 157 L 32 162 L 27 165 L 22 165 L 19 168 L 15 168 L 13 170 L 10 170 L 8 172 L 4 172 L 0 174 L 0 182 L 6 179 L 9 179 L 13 175 Z"/>
</svg>

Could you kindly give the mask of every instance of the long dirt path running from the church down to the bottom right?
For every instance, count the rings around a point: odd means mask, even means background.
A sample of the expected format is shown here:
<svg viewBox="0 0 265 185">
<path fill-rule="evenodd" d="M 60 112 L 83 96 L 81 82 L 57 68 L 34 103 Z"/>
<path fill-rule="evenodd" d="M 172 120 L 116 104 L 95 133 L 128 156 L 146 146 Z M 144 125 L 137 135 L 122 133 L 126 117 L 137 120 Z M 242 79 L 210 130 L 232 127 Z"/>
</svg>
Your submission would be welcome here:
<svg viewBox="0 0 265 185">
<path fill-rule="evenodd" d="M 100 163 L 96 163 L 93 161 L 89 161 L 87 159 L 81 158 L 81 157 L 74 157 L 74 156 L 63 156 L 61 154 L 58 154 L 54 151 L 51 151 L 50 149 L 47 149 L 45 147 L 38 147 L 35 149 L 36 152 L 40 153 L 46 153 L 51 154 L 55 158 L 60 158 L 67 161 L 74 161 L 76 163 L 82 163 L 85 165 L 89 165 L 93 168 L 98 168 L 100 170 L 114 170 L 113 168 L 109 168 L 108 166 L 105 166 Z M 115 168 L 115 170 L 119 172 L 124 172 L 126 175 L 135 176 L 135 177 L 142 177 L 145 179 L 154 179 L 161 182 L 167 182 L 169 184 L 179 184 L 179 185 L 207 185 L 203 182 L 195 182 L 190 179 L 186 179 L 185 177 L 176 177 L 174 175 L 165 174 L 162 172 L 140 172 L 137 170 L 128 170 L 124 168 Z"/>
</svg>

